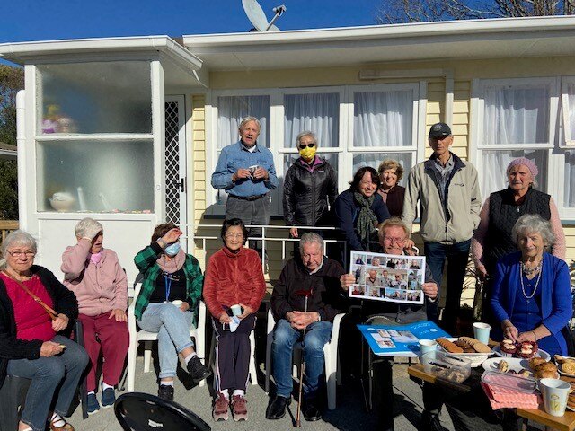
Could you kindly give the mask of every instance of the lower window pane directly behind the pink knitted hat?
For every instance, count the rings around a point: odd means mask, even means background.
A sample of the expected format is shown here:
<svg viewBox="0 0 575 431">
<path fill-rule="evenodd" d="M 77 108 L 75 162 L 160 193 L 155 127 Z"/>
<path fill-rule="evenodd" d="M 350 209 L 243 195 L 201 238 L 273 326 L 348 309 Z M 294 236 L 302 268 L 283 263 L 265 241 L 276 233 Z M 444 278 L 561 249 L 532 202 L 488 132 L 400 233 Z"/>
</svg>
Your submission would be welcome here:
<svg viewBox="0 0 575 431">
<path fill-rule="evenodd" d="M 536 177 L 538 186 L 536 189 L 547 189 L 547 150 L 501 150 L 501 151 L 484 151 L 482 170 L 482 195 L 487 198 L 490 193 L 501 189 L 507 189 L 508 179 L 505 173 L 507 165 L 517 157 L 526 157 L 535 162 L 539 169 Z"/>
</svg>

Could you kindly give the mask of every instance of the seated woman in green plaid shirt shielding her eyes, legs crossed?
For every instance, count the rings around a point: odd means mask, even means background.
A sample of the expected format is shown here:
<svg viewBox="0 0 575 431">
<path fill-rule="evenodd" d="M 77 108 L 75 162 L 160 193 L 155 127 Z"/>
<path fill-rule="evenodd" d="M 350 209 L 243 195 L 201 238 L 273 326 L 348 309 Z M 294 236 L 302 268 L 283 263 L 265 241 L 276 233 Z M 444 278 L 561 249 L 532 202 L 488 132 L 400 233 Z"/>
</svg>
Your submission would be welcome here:
<svg viewBox="0 0 575 431">
<path fill-rule="evenodd" d="M 134 258 L 144 276 L 134 313 L 141 329 L 158 334 L 158 396 L 164 400 L 173 400 L 178 355 L 184 359 L 194 382 L 211 374 L 190 339 L 190 325 L 197 323 L 204 277 L 198 259 L 181 249 L 180 236 L 181 230 L 175 224 L 159 224 L 150 245 Z"/>
</svg>

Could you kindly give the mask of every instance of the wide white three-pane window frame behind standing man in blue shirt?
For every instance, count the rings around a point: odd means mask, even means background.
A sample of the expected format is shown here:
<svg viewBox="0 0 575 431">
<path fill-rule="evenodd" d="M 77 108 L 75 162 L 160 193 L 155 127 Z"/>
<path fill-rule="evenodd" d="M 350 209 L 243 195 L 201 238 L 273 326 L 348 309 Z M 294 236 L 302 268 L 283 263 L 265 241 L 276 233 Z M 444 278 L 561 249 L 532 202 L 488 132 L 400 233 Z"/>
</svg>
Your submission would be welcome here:
<svg viewBox="0 0 575 431">
<path fill-rule="evenodd" d="M 413 90 L 413 114 L 412 114 L 412 145 L 409 146 L 385 146 L 385 147 L 353 147 L 353 93 L 354 92 L 378 92 Z M 367 153 L 412 153 L 413 164 L 421 162 L 425 157 L 425 117 L 427 106 L 427 82 L 411 82 L 406 84 L 372 84 L 372 85 L 333 85 L 317 87 L 294 87 L 294 88 L 256 88 L 241 90 L 217 90 L 209 94 L 206 105 L 207 121 L 207 145 L 206 145 L 206 184 L 211 188 L 211 175 L 217 164 L 218 150 L 218 97 L 225 96 L 270 96 L 270 151 L 273 154 L 276 172 L 279 178 L 283 178 L 284 156 L 296 154 L 294 143 L 284 141 L 284 95 L 287 94 L 317 94 L 339 93 L 340 97 L 340 130 L 339 145 L 337 147 L 320 147 L 319 153 L 338 154 L 338 188 L 341 191 L 349 188 L 349 180 L 353 176 L 353 156 Z M 231 144 L 231 143 L 230 143 Z M 279 190 L 281 191 L 281 190 Z M 224 192 L 223 190 L 221 192 Z M 206 194 L 207 209 L 209 215 L 222 215 L 224 208 L 217 207 L 215 193 Z M 270 216 L 282 216 L 282 203 L 279 198 L 272 199 Z"/>
</svg>

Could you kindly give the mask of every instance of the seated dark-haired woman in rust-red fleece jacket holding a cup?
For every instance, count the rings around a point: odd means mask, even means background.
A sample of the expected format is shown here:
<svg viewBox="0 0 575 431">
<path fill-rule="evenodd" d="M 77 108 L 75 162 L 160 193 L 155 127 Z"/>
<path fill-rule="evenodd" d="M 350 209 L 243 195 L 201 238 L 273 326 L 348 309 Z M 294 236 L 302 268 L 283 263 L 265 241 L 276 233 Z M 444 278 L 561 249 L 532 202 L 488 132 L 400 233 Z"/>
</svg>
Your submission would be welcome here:
<svg viewBox="0 0 575 431">
<path fill-rule="evenodd" d="M 204 300 L 217 334 L 214 420 L 227 420 L 232 393 L 234 420 L 246 420 L 245 387 L 250 366 L 250 332 L 255 313 L 266 292 L 260 257 L 243 248 L 247 229 L 239 218 L 224 220 L 221 232 L 224 247 L 209 259 L 204 280 Z M 238 315 L 238 308 L 242 307 Z M 239 325 L 237 320 L 239 319 Z"/>
</svg>

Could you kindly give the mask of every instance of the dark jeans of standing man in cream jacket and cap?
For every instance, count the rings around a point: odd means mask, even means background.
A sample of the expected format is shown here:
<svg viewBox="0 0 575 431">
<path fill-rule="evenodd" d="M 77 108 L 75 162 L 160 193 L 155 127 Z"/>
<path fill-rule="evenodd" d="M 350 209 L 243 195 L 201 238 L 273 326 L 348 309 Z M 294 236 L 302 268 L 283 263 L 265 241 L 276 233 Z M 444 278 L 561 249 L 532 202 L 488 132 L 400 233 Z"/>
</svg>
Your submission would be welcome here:
<svg viewBox="0 0 575 431">
<path fill-rule="evenodd" d="M 443 311 L 443 327 L 451 334 L 455 334 L 456 330 L 470 244 L 471 240 L 456 242 L 455 244 L 442 244 L 440 242 L 425 242 L 423 244 L 427 264 L 438 286 L 441 286 L 443 265 L 447 259 L 447 295 L 446 308 Z M 430 303 L 427 306 L 428 319 L 437 321 L 437 306 L 432 308 Z M 436 309 L 435 316 L 433 316 L 432 311 L 434 308 Z"/>
</svg>

